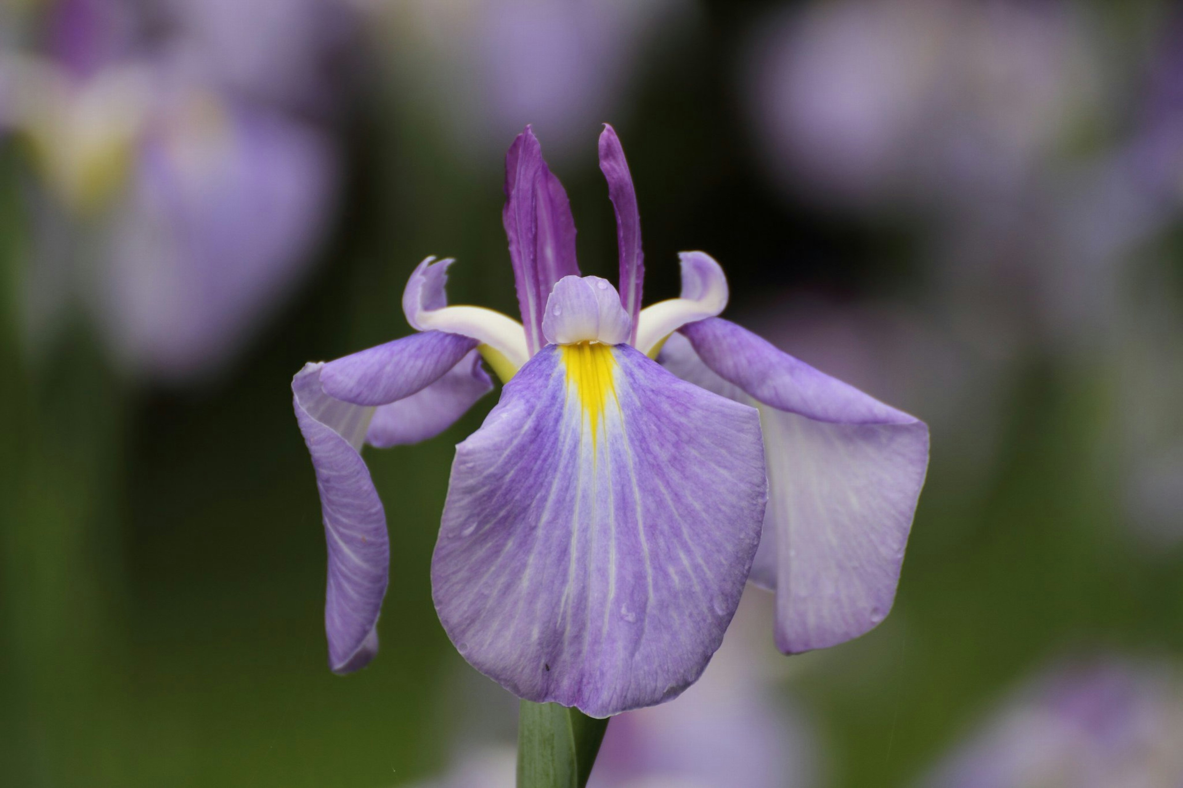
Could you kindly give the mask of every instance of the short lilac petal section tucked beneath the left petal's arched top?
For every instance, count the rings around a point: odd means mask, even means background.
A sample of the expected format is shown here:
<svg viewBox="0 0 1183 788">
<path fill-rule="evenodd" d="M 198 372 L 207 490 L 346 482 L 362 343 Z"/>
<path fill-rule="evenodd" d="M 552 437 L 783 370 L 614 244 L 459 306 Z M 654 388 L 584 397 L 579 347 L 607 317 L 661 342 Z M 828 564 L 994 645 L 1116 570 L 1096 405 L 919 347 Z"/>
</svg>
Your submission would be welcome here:
<svg viewBox="0 0 1183 788">
<path fill-rule="evenodd" d="M 434 438 L 455 424 L 492 387 L 489 374 L 480 366 L 480 355 L 471 350 L 431 386 L 377 408 L 366 441 L 386 448 Z"/>
</svg>

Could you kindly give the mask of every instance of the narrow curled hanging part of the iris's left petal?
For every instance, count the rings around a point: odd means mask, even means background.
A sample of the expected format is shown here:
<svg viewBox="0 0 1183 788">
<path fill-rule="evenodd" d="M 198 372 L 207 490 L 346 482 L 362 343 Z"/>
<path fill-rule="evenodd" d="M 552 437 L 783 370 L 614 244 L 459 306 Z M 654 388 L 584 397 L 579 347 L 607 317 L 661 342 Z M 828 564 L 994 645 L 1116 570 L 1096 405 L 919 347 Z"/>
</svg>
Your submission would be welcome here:
<svg viewBox="0 0 1183 788">
<path fill-rule="evenodd" d="M 292 379 L 296 419 L 316 469 L 329 573 L 324 631 L 329 667 L 348 673 L 377 653 L 377 615 L 386 595 L 390 548 L 386 515 L 358 450 L 374 408 L 335 400 L 321 388 L 323 363 Z"/>
</svg>

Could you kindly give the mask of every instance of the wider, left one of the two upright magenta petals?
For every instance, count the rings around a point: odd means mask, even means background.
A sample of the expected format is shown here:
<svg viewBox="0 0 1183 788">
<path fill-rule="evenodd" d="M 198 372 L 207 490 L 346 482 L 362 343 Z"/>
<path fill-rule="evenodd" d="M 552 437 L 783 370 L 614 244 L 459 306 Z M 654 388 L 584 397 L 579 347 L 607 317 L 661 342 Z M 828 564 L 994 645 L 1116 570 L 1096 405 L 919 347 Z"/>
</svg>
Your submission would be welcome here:
<svg viewBox="0 0 1183 788">
<path fill-rule="evenodd" d="M 563 185 L 542 159 L 542 147 L 530 127 L 505 154 L 505 209 L 513 280 L 530 353 L 542 338 L 542 310 L 556 282 L 578 276 L 575 260 L 575 219 Z"/>
</svg>

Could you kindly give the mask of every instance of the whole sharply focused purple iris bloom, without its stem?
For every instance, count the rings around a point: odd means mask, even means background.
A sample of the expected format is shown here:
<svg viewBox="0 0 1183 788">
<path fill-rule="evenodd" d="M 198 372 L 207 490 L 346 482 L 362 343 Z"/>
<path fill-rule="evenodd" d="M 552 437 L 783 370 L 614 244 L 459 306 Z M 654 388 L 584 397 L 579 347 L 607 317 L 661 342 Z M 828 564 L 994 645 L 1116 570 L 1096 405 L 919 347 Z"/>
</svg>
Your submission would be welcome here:
<svg viewBox="0 0 1183 788">
<path fill-rule="evenodd" d="M 427 258 L 402 301 L 418 334 L 293 379 L 329 547 L 334 671 L 374 655 L 387 584 L 362 445 L 444 431 L 491 389 L 481 360 L 505 385 L 457 446 L 432 587 L 452 642 L 515 695 L 594 717 L 675 697 L 722 642 L 749 574 L 776 589 L 786 652 L 887 614 L 926 427 L 716 317 L 728 285 L 703 252 L 681 254 L 679 298 L 641 309 L 636 195 L 610 127 L 600 166 L 619 293 L 580 276 L 567 195 L 526 128 L 506 157 L 503 215 L 522 323 L 447 305 L 452 260 Z"/>
</svg>

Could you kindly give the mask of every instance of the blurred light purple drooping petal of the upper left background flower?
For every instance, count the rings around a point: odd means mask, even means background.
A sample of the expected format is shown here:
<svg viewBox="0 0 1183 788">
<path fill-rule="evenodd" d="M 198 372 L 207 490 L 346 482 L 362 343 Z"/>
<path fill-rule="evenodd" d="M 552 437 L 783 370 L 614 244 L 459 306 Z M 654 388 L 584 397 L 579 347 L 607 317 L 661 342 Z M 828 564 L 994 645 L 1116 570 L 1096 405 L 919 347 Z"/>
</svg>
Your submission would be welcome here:
<svg viewBox="0 0 1183 788">
<path fill-rule="evenodd" d="M 212 368 L 270 316 L 311 261 L 336 186 L 321 130 L 187 92 L 140 142 L 101 311 L 118 350 L 166 379 Z"/>
</svg>

